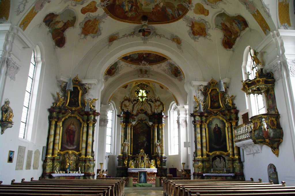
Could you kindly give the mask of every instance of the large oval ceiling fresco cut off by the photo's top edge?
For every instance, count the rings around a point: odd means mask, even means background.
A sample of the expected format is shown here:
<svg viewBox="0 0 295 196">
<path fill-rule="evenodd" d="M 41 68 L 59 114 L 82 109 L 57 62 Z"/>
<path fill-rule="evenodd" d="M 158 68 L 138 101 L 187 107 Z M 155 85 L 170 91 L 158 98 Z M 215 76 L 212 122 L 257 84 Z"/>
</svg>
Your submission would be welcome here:
<svg viewBox="0 0 295 196">
<path fill-rule="evenodd" d="M 150 24 L 171 23 L 181 19 L 189 11 L 183 5 L 186 0 L 101 0 L 104 1 L 109 2 L 104 11 L 112 18 L 137 24 L 140 24 L 143 17 Z"/>
</svg>

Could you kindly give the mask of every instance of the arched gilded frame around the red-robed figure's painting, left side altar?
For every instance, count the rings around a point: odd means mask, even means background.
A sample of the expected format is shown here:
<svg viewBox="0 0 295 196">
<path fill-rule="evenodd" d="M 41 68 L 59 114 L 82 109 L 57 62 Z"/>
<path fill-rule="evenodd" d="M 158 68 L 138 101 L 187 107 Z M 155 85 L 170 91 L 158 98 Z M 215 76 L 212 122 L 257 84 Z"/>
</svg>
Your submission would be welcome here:
<svg viewBox="0 0 295 196">
<path fill-rule="evenodd" d="M 65 150 L 65 151 L 60 151 L 61 142 L 62 142 L 62 135 L 63 135 L 63 122 L 64 122 L 65 119 L 68 119 L 68 117 L 76 117 L 77 120 L 79 120 L 81 122 L 81 128 L 80 129 L 77 128 L 77 131 L 80 130 L 79 151 L 75 151 L 75 150 L 71 150 L 71 149 Z M 72 152 L 74 152 L 76 154 L 80 154 L 81 153 L 83 127 L 84 127 L 84 123 L 83 123 L 82 118 L 79 115 L 77 115 L 77 114 L 68 114 L 65 117 L 63 117 L 63 119 L 60 122 L 60 135 L 59 135 L 58 153 L 64 154 L 64 153 L 67 153 L 69 151 L 72 151 Z"/>
</svg>

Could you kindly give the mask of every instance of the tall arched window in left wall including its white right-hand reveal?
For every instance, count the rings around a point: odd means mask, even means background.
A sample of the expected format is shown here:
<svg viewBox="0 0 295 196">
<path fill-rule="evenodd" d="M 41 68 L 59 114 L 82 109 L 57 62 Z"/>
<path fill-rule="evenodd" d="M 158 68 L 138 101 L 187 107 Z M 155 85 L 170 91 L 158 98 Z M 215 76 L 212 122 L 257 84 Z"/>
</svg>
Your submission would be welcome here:
<svg viewBox="0 0 295 196">
<path fill-rule="evenodd" d="M 32 127 L 35 114 L 37 91 L 39 85 L 41 58 L 39 47 L 32 52 L 30 68 L 25 89 L 24 105 L 22 110 L 21 124 L 19 128 L 19 138 L 31 140 Z"/>
</svg>

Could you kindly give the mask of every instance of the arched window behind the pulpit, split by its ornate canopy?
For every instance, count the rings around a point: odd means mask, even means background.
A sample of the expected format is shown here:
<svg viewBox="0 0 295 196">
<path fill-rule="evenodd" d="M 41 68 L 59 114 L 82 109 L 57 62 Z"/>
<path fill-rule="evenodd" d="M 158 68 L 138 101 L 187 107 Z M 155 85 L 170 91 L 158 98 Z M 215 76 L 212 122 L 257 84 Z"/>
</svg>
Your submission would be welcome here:
<svg viewBox="0 0 295 196">
<path fill-rule="evenodd" d="M 250 46 L 248 46 L 244 52 L 244 62 L 242 66 L 243 80 L 247 80 L 248 78 L 250 80 L 254 79 L 257 72 L 256 68 L 253 68 L 250 52 L 253 55 L 253 50 L 250 50 Z M 250 116 L 266 113 L 265 97 L 263 94 L 250 94 L 246 99 L 247 108 L 250 110 Z"/>
</svg>

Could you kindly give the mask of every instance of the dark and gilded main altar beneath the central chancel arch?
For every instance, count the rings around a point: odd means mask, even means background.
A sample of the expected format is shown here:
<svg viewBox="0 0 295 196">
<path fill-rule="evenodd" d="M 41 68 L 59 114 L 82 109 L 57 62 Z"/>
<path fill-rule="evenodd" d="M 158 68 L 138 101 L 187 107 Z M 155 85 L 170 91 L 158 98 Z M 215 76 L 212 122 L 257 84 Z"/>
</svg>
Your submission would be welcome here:
<svg viewBox="0 0 295 196">
<path fill-rule="evenodd" d="M 141 82 L 132 87 L 135 94 L 125 96 L 120 103 L 121 149 L 117 177 L 138 177 L 147 171 L 148 177 L 166 176 L 164 154 L 165 106 L 155 98 L 153 86 Z"/>
</svg>

